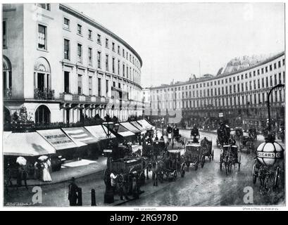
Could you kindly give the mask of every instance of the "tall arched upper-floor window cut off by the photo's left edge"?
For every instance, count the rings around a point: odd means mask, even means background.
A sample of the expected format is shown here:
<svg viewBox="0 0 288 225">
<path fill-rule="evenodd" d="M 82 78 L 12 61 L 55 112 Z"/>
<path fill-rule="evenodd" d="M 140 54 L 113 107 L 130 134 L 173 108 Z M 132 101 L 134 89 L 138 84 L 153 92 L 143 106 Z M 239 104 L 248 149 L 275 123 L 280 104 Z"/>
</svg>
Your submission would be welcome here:
<svg viewBox="0 0 288 225">
<path fill-rule="evenodd" d="M 11 62 L 6 56 L 3 56 L 3 89 L 4 98 L 11 94 L 12 89 L 12 69 Z"/>
</svg>

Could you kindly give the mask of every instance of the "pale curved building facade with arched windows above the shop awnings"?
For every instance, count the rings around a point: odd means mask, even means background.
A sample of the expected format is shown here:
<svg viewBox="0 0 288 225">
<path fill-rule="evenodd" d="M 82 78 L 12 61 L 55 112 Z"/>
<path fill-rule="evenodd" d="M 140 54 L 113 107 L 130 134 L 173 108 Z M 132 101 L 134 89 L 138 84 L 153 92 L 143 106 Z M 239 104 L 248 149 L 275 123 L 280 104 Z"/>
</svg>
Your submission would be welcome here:
<svg viewBox="0 0 288 225">
<path fill-rule="evenodd" d="M 142 59 L 106 27 L 64 4 L 4 4 L 3 25 L 5 115 L 23 106 L 37 124 L 142 115 Z"/>
</svg>

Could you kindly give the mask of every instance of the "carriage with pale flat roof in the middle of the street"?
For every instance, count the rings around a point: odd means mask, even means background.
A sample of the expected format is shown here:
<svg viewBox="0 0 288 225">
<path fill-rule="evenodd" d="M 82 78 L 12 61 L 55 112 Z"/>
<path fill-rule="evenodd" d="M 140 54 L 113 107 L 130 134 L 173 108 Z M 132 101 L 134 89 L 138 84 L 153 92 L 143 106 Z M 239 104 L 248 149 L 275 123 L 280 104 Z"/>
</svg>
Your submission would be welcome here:
<svg viewBox="0 0 288 225">
<path fill-rule="evenodd" d="M 187 143 L 184 151 L 184 161 L 187 165 L 187 171 L 189 171 L 190 165 L 194 165 L 194 169 L 198 169 L 199 163 L 201 167 L 205 164 L 205 155 L 202 154 L 200 143 Z"/>
</svg>

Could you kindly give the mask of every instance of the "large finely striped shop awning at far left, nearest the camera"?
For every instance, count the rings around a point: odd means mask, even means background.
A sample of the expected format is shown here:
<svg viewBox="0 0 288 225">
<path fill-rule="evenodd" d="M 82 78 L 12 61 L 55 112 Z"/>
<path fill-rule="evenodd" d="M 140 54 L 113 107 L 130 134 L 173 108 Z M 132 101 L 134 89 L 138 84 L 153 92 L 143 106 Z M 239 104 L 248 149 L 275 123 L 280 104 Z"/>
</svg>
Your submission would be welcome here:
<svg viewBox="0 0 288 225">
<path fill-rule="evenodd" d="M 6 135 L 3 147 L 4 155 L 37 156 L 56 153 L 55 148 L 37 132 Z"/>
</svg>

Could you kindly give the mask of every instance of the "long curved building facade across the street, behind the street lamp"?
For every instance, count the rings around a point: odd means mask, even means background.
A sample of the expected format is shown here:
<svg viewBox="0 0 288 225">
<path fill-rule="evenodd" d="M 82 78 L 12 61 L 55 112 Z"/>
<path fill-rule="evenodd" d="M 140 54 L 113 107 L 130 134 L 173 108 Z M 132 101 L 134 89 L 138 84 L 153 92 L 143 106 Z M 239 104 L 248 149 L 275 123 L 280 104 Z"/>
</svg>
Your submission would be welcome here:
<svg viewBox="0 0 288 225">
<path fill-rule="evenodd" d="M 285 84 L 284 52 L 234 72 L 151 87 L 150 115 L 163 117 L 165 112 L 181 110 L 182 123 L 187 126 L 194 120 L 234 123 L 241 119 L 244 127 L 253 124 L 260 128 L 268 118 L 268 92 L 277 84 Z M 276 124 L 284 124 L 284 92 L 282 87 L 270 96 Z"/>
</svg>

